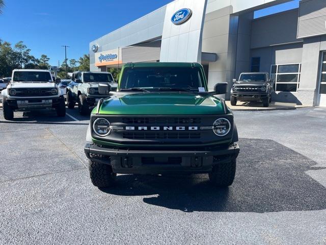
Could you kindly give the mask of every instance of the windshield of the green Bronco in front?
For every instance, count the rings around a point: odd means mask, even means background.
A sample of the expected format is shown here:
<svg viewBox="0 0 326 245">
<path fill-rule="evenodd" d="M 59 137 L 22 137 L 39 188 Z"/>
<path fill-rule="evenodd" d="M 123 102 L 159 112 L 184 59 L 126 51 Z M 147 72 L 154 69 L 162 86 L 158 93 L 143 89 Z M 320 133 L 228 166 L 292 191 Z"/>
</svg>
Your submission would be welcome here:
<svg viewBox="0 0 326 245">
<path fill-rule="evenodd" d="M 205 83 L 198 68 L 130 67 L 124 69 L 120 90 L 131 88 L 205 91 Z"/>
</svg>

